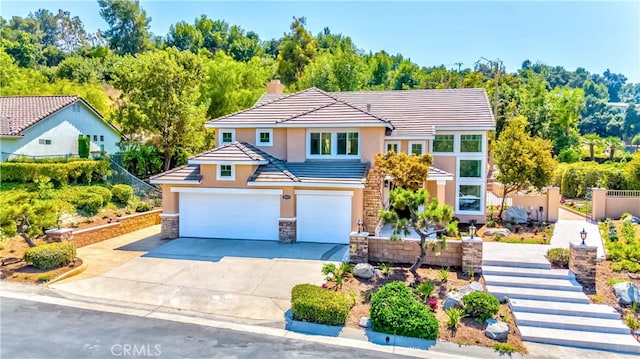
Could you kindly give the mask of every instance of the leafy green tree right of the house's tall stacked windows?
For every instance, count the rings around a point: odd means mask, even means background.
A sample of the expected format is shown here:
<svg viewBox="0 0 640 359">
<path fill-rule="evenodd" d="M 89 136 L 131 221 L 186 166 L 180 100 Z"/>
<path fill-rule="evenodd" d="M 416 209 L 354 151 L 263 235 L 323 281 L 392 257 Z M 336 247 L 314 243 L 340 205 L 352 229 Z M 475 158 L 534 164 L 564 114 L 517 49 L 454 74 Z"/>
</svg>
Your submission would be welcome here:
<svg viewBox="0 0 640 359">
<path fill-rule="evenodd" d="M 556 161 L 551 157 L 551 143 L 531 137 L 526 131 L 527 124 L 523 116 L 512 118 L 495 144 L 496 179 L 504 186 L 498 217 L 502 216 L 509 193 L 531 186 L 542 189 L 551 181 L 556 167 Z"/>
</svg>

